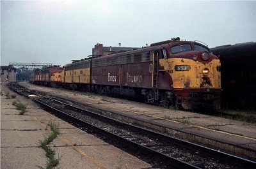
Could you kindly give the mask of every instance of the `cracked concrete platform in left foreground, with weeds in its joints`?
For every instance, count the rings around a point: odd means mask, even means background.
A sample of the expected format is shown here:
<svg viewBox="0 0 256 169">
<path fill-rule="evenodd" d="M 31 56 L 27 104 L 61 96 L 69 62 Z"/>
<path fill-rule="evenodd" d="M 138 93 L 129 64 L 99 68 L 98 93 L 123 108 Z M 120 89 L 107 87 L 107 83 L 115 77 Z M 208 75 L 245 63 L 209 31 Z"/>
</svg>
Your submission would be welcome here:
<svg viewBox="0 0 256 169">
<path fill-rule="evenodd" d="M 60 128 L 60 135 L 49 144 L 56 151 L 56 158 L 60 158 L 57 168 L 152 168 L 131 154 L 45 112 L 29 99 L 22 96 L 6 99 L 6 93 L 14 93 L 5 84 L 1 84 L 1 92 L 1 168 L 45 168 L 47 158 L 39 144 L 51 133 L 47 127 L 50 121 Z M 27 112 L 19 115 L 13 101 L 28 105 Z"/>
</svg>

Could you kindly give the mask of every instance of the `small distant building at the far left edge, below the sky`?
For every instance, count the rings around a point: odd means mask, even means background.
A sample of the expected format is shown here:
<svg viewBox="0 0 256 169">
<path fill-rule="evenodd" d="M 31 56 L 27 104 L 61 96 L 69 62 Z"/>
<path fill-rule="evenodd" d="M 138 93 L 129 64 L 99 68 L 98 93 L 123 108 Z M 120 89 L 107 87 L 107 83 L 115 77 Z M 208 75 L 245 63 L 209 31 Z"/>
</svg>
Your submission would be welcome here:
<svg viewBox="0 0 256 169">
<path fill-rule="evenodd" d="M 16 68 L 12 66 L 0 66 L 1 67 L 1 82 L 16 82 Z"/>
</svg>

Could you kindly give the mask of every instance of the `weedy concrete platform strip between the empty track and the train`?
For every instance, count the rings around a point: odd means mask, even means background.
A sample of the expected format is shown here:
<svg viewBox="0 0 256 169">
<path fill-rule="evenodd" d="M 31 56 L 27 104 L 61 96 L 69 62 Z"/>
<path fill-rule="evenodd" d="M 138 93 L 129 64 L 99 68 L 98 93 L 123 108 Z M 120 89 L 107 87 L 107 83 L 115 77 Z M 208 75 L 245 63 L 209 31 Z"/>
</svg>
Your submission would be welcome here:
<svg viewBox="0 0 256 169">
<path fill-rule="evenodd" d="M 111 115 L 123 121 L 156 129 L 168 135 L 242 156 L 243 158 L 256 159 L 255 124 L 171 110 L 125 99 L 42 87 L 28 82 L 20 84 L 29 89 L 84 103 L 90 108 L 99 108 L 102 110 L 100 113 Z"/>
</svg>

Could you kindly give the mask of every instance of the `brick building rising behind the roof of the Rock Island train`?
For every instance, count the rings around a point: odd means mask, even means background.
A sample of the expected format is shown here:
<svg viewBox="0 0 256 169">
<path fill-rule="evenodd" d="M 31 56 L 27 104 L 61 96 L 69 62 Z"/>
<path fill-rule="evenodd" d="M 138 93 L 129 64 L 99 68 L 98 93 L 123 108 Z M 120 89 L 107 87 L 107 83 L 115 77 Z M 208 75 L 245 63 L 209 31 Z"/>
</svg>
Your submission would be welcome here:
<svg viewBox="0 0 256 169">
<path fill-rule="evenodd" d="M 121 44 L 119 43 L 121 46 Z M 138 48 L 133 48 L 133 47 L 103 47 L 103 44 L 97 43 L 94 45 L 94 48 L 92 48 L 92 55 L 109 55 L 113 54 L 116 52 L 125 52 L 128 50 L 135 50 Z"/>
</svg>

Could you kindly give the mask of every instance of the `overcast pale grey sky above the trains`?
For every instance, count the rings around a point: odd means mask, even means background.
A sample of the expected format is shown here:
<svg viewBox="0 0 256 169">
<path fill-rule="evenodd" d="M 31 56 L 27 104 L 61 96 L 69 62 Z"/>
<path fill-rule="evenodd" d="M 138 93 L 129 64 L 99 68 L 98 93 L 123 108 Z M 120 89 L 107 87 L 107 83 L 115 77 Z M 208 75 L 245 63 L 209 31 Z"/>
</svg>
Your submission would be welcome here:
<svg viewBox="0 0 256 169">
<path fill-rule="evenodd" d="M 104 46 L 256 41 L 256 1 L 1 1 L 1 65 L 64 64 Z"/>
</svg>

